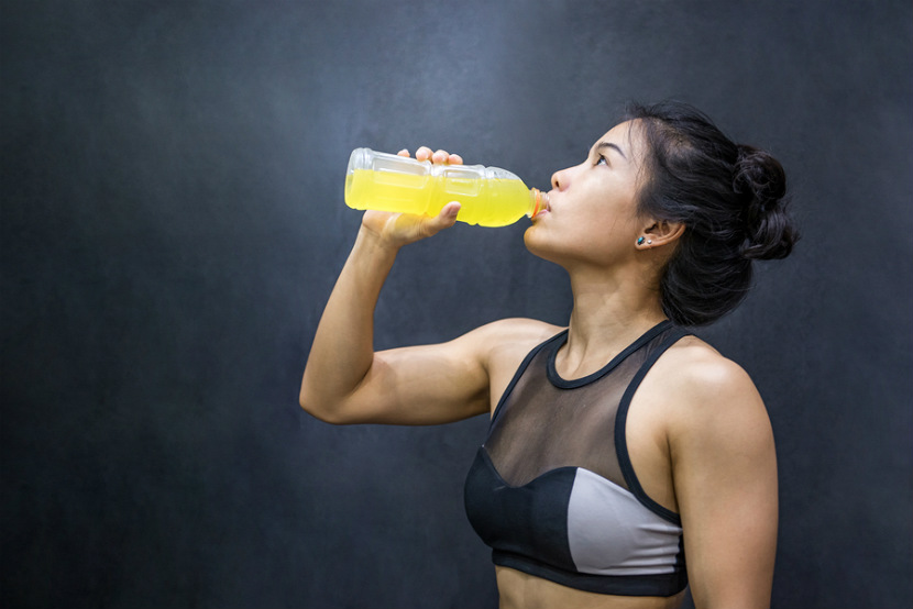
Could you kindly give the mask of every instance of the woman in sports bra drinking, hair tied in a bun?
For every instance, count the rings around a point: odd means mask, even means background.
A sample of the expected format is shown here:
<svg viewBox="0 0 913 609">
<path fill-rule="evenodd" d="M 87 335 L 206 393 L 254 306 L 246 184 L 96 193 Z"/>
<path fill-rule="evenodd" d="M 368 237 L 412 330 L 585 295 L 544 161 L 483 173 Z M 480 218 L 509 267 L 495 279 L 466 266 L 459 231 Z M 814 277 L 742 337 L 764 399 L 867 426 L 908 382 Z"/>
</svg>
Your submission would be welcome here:
<svg viewBox="0 0 913 609">
<path fill-rule="evenodd" d="M 688 583 L 697 607 L 766 607 L 778 508 L 767 411 L 738 365 L 681 326 L 736 307 L 752 259 L 790 253 L 784 193 L 776 159 L 696 110 L 636 107 L 552 176 L 525 233 L 570 275 L 566 329 L 507 319 L 378 353 L 373 311 L 397 251 L 452 225 L 459 203 L 435 218 L 369 211 L 301 407 L 332 423 L 488 413 L 465 501 L 504 609 L 678 607 Z"/>
</svg>

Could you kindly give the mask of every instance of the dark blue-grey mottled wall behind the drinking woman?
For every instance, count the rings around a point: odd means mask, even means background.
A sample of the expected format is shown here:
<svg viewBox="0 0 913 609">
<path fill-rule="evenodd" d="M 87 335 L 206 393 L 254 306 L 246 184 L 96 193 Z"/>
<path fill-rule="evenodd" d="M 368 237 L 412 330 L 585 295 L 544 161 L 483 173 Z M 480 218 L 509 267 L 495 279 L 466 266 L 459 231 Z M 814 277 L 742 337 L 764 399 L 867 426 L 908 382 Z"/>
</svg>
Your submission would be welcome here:
<svg viewBox="0 0 913 609">
<path fill-rule="evenodd" d="M 773 421 L 773 606 L 910 607 L 909 0 L 4 0 L 0 29 L 4 607 L 495 607 L 462 506 L 485 420 L 297 406 L 348 155 L 547 186 L 669 97 L 781 158 L 804 230 L 702 332 Z M 524 228 L 404 251 L 376 345 L 562 323 Z"/>
</svg>

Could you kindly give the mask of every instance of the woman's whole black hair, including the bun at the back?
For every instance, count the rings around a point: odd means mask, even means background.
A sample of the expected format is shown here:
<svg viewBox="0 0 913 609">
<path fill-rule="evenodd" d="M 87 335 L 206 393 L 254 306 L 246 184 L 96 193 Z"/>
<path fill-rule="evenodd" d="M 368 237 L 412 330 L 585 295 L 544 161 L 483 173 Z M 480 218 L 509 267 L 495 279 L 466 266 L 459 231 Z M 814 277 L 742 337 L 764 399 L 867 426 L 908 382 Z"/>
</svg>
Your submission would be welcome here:
<svg viewBox="0 0 913 609">
<path fill-rule="evenodd" d="M 799 240 L 783 167 L 685 103 L 630 104 L 627 119 L 647 143 L 639 213 L 685 226 L 660 278 L 663 311 L 681 325 L 716 321 L 748 292 L 751 261 L 784 258 Z"/>
</svg>

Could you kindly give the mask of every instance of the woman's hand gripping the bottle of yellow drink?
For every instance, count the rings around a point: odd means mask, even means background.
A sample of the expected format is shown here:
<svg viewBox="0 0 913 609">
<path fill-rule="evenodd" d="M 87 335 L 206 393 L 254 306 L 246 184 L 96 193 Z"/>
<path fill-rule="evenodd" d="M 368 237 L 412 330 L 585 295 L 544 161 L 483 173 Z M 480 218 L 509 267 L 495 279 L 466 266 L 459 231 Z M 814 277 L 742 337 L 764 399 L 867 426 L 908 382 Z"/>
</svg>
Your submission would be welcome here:
<svg viewBox="0 0 913 609">
<path fill-rule="evenodd" d="M 409 151 L 403 150 L 399 156 L 409 156 Z M 417 160 L 431 160 L 436 164 L 462 165 L 463 159 L 458 154 L 447 151 L 431 152 L 431 148 L 421 146 L 416 151 Z M 384 245 L 399 248 L 437 234 L 449 229 L 457 222 L 460 203 L 450 202 L 441 209 L 438 215 L 414 215 L 410 213 L 389 213 L 386 211 L 369 210 L 362 217 L 362 228 L 377 237 Z"/>
</svg>

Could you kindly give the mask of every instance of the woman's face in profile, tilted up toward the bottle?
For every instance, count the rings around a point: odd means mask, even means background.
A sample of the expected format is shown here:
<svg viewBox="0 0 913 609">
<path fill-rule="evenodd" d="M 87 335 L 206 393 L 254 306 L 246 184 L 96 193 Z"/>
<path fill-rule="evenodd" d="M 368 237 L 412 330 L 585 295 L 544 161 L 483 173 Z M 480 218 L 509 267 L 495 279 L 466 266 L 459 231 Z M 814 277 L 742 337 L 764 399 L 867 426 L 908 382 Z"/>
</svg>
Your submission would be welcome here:
<svg viewBox="0 0 913 609">
<path fill-rule="evenodd" d="M 549 209 L 524 235 L 529 251 L 565 267 L 634 256 L 646 228 L 636 213 L 644 146 L 640 125 L 624 122 L 593 144 L 586 160 L 557 171 Z"/>
</svg>

